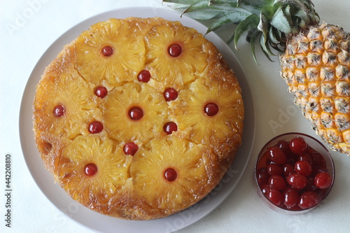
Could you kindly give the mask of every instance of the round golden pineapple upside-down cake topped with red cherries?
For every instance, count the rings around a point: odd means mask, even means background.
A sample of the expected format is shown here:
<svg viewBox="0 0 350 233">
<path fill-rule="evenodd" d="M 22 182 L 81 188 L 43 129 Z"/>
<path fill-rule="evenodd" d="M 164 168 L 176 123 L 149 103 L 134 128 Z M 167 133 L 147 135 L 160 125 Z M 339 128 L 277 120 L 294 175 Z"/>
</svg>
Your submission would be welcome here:
<svg viewBox="0 0 350 233">
<path fill-rule="evenodd" d="M 66 45 L 36 87 L 34 134 L 68 195 L 129 220 L 200 201 L 241 144 L 239 83 L 195 29 L 109 19 Z"/>
</svg>

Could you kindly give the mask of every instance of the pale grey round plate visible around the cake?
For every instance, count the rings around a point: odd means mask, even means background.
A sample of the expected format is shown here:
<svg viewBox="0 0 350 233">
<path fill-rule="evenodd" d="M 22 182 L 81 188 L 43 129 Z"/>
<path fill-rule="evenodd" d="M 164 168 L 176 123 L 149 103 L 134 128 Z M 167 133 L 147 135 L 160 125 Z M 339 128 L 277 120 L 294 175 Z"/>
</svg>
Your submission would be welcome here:
<svg viewBox="0 0 350 233">
<path fill-rule="evenodd" d="M 62 50 L 63 46 L 71 42 L 82 31 L 88 29 L 90 25 L 108 20 L 110 17 L 125 18 L 125 17 L 163 17 L 167 20 L 178 20 L 182 24 L 188 27 L 193 27 L 205 34 L 207 27 L 200 24 L 189 17 L 180 17 L 179 13 L 172 10 L 164 10 L 161 8 L 123 8 L 118 10 L 112 10 L 100 15 L 91 17 L 84 22 L 66 31 L 60 36 L 55 43 L 53 43 L 48 50 L 43 54 L 41 59 L 36 64 L 34 70 L 29 77 L 25 92 L 22 97 L 22 104 L 20 108 L 20 140 L 22 144 L 22 152 L 25 156 L 25 161 L 31 175 L 33 176 L 36 184 L 41 189 L 43 194 L 57 206 L 59 210 L 64 212 L 66 216 L 69 216 L 77 223 L 93 230 L 95 232 L 174 232 L 180 230 L 183 227 L 187 227 L 197 220 L 200 220 L 208 213 L 216 209 L 220 205 L 230 192 L 234 190 L 235 186 L 239 182 L 241 175 L 246 169 L 251 150 L 254 141 L 255 134 L 255 118 L 253 99 L 251 95 L 251 89 L 248 85 L 248 80 L 241 68 L 237 57 L 228 47 L 228 45 L 221 40 L 213 32 L 207 34 L 207 39 L 213 42 L 218 50 L 221 51 L 223 57 L 228 61 L 230 67 L 235 71 L 244 99 L 245 106 L 245 119 L 244 119 L 244 136 L 243 143 L 239 149 L 239 153 L 233 163 L 232 167 L 228 171 L 228 174 L 223 178 L 221 183 L 201 202 L 198 202 L 194 206 L 177 213 L 167 218 L 148 221 L 132 221 L 132 220 L 120 220 L 117 218 L 111 218 L 102 214 L 91 211 L 90 209 L 81 206 L 73 201 L 57 183 L 54 183 L 54 179 L 51 174 L 43 167 L 43 162 L 36 149 L 34 142 L 34 136 L 32 133 L 32 106 L 35 95 L 35 87 L 38 84 L 41 74 L 52 59 L 54 59 L 58 53 Z"/>
</svg>

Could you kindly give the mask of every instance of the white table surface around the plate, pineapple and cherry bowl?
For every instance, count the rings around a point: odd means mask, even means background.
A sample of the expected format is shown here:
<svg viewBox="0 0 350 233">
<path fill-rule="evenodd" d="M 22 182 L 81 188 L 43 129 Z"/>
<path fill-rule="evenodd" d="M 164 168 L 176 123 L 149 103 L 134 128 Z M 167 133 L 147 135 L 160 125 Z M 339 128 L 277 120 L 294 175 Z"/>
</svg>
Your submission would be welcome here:
<svg viewBox="0 0 350 233">
<path fill-rule="evenodd" d="M 323 21 L 350 31 L 350 1 L 314 0 L 314 4 Z M 53 41 L 89 17 L 130 6 L 167 8 L 160 0 L 0 1 L 0 232 L 91 232 L 51 204 L 31 177 L 20 146 L 20 102 L 32 69 Z M 218 35 L 228 37 L 224 30 L 218 31 Z M 310 213 L 298 216 L 276 213 L 258 198 L 253 167 L 260 148 L 284 132 L 319 137 L 293 105 L 293 97 L 279 76 L 276 57 L 276 62 L 269 62 L 258 51 L 258 66 L 248 45 L 241 45 L 234 52 L 246 71 L 255 104 L 251 158 L 241 181 L 225 202 L 179 232 L 350 232 L 350 157 L 346 155 L 331 152 L 336 169 L 335 185 L 325 202 Z M 6 153 L 12 155 L 11 228 L 5 226 L 4 216 Z"/>
</svg>

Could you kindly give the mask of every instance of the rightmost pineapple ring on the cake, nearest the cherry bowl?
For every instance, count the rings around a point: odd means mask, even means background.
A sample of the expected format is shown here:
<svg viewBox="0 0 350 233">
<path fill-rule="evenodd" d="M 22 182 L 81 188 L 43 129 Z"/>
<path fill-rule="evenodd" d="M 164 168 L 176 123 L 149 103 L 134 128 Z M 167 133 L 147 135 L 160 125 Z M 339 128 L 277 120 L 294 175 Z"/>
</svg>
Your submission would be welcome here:
<svg viewBox="0 0 350 233">
<path fill-rule="evenodd" d="M 223 148 L 234 148 L 232 141 L 226 141 L 228 138 L 235 138 L 235 143 L 241 142 L 239 135 L 244 118 L 240 89 L 237 83 L 223 80 L 223 72 L 229 71 L 211 66 L 171 103 L 171 115 L 177 116 L 179 130 L 186 133 L 188 140 L 211 144 L 219 156 L 230 152 Z M 218 108 L 214 115 L 205 113 L 206 106 L 210 105 Z"/>
</svg>

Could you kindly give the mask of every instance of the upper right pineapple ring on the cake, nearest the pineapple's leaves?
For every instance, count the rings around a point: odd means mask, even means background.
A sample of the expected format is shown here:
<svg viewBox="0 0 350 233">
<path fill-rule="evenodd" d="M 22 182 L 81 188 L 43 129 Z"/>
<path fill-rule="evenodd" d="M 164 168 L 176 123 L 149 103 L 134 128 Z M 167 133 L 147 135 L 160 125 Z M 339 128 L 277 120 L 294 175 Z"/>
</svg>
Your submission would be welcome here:
<svg viewBox="0 0 350 233">
<path fill-rule="evenodd" d="M 200 74 L 207 67 L 212 44 L 195 29 L 180 22 L 166 22 L 153 27 L 145 36 L 146 69 L 164 85 L 183 85 L 192 82 L 193 73 Z M 175 45 L 177 54 L 169 54 Z"/>
</svg>

